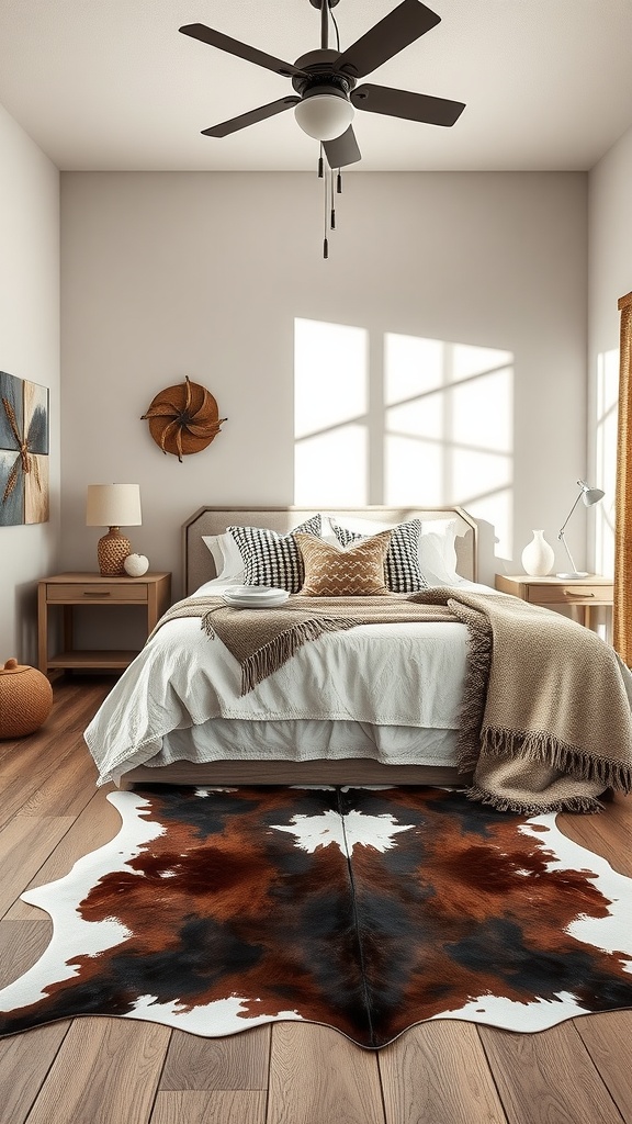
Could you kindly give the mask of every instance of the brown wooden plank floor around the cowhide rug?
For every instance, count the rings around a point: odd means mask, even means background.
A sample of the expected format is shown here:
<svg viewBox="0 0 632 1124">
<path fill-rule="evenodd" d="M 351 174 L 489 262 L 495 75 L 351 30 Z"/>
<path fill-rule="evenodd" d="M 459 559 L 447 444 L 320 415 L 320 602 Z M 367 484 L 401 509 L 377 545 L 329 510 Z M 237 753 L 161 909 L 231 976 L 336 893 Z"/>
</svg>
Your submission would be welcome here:
<svg viewBox="0 0 632 1124">
<path fill-rule="evenodd" d="M 118 831 L 81 736 L 110 686 L 61 681 L 43 728 L 0 742 L 0 986 L 49 940 L 20 892 Z M 632 798 L 560 825 L 632 876 Z M 300 1023 L 207 1040 L 85 1017 L 0 1040 L 0 1122 L 632 1124 L 631 1055 L 632 1012 L 524 1035 L 437 1021 L 378 1052 Z"/>
</svg>

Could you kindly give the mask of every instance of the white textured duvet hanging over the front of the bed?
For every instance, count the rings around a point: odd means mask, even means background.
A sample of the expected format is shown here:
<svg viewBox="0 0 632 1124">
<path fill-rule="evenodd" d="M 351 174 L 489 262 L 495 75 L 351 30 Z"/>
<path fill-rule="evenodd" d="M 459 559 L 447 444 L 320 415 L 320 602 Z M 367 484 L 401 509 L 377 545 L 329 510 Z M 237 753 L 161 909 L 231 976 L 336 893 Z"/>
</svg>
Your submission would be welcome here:
<svg viewBox="0 0 632 1124">
<path fill-rule="evenodd" d="M 208 582 L 196 596 L 223 588 Z M 453 764 L 466 658 L 462 624 L 361 625 L 304 644 L 241 696 L 234 656 L 198 617 L 179 618 L 148 641 L 84 737 L 99 783 L 178 759 Z"/>
</svg>

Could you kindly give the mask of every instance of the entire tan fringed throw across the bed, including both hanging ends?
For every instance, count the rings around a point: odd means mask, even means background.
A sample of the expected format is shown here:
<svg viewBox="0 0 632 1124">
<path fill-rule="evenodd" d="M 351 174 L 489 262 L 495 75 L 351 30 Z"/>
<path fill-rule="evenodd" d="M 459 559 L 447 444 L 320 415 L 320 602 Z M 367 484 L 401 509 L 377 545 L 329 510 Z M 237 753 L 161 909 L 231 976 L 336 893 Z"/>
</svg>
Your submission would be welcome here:
<svg viewBox="0 0 632 1124">
<path fill-rule="evenodd" d="M 243 694 L 306 642 L 362 624 L 460 620 L 468 677 L 459 767 L 468 795 L 499 810 L 596 812 L 605 788 L 632 788 L 632 676 L 612 647 L 560 614 L 454 588 L 365 598 L 291 597 L 235 609 L 220 598 L 174 605 L 156 628 L 200 616 L 242 667 Z"/>
</svg>

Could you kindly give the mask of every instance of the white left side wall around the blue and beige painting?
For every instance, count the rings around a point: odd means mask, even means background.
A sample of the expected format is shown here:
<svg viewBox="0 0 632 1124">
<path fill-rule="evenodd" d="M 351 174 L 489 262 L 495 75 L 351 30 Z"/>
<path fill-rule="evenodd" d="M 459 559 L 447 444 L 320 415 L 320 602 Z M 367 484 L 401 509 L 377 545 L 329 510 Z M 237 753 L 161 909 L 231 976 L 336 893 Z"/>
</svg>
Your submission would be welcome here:
<svg viewBox="0 0 632 1124">
<path fill-rule="evenodd" d="M 0 526 L 0 665 L 36 660 L 36 582 L 58 564 L 60 176 L 0 106 L 0 370 L 51 390 L 51 518 Z"/>
</svg>

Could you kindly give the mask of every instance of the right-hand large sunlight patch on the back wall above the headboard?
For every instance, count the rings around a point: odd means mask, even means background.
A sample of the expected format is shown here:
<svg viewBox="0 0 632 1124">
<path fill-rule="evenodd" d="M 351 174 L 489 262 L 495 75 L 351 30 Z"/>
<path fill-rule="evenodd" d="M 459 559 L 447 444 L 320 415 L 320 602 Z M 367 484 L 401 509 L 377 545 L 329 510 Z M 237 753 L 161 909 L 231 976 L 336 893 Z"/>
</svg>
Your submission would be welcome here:
<svg viewBox="0 0 632 1124">
<path fill-rule="evenodd" d="M 511 558 L 513 355 L 387 333 L 385 386 L 383 502 L 459 504 Z"/>
</svg>

